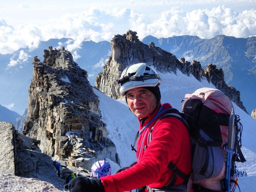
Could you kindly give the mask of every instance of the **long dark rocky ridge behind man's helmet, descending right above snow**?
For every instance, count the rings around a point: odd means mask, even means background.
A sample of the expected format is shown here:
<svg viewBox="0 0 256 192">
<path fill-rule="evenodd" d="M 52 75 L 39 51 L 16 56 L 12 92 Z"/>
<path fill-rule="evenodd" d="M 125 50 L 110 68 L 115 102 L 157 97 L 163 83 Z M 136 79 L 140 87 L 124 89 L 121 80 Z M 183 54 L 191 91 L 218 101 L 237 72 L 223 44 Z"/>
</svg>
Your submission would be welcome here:
<svg viewBox="0 0 256 192">
<path fill-rule="evenodd" d="M 200 81 L 203 77 L 223 91 L 234 103 L 245 112 L 246 109 L 240 101 L 240 92 L 234 87 L 226 85 L 222 69 L 216 69 L 216 65 L 208 64 L 202 69 L 200 62 L 193 60 L 192 64 L 184 58 L 178 60 L 175 55 L 156 47 L 153 42 L 149 45 L 140 42 L 136 32 L 128 31 L 124 35 L 115 35 L 110 45 L 110 55 L 104 70 L 98 74 L 95 87 L 114 99 L 121 99 L 118 86 L 113 82 L 120 77 L 124 68 L 135 63 L 147 63 L 162 72 L 176 74 L 177 69 L 183 74 L 194 75 Z"/>
</svg>

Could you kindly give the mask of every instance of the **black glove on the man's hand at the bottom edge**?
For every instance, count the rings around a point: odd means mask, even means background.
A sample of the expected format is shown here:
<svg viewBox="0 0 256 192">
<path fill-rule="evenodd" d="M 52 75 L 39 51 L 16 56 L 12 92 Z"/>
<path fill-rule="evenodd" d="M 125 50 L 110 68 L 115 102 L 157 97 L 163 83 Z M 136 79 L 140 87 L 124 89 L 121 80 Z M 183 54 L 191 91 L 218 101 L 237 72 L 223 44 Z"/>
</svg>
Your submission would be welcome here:
<svg viewBox="0 0 256 192">
<path fill-rule="evenodd" d="M 75 177 L 64 187 L 70 192 L 105 192 L 100 179 L 83 176 Z"/>
</svg>

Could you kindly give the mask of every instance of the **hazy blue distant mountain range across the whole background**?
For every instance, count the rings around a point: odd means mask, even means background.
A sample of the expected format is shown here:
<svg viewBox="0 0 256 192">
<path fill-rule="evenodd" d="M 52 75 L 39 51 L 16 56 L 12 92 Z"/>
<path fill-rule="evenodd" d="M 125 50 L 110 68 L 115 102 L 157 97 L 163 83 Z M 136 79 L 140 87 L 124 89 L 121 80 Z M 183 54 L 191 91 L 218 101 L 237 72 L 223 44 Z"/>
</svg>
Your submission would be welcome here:
<svg viewBox="0 0 256 192">
<path fill-rule="evenodd" d="M 20 48 L 13 54 L 0 54 L 0 104 L 22 115 L 27 108 L 28 87 L 32 77 L 32 58 L 38 56 L 43 60 L 42 50 L 49 46 L 69 47 L 72 39 L 50 39 L 40 42 L 38 48 Z M 184 57 L 188 61 L 197 60 L 205 67 L 209 63 L 223 68 L 225 81 L 235 87 L 241 94 L 248 113 L 256 108 L 256 101 L 251 99 L 256 94 L 256 37 L 234 38 L 218 35 L 212 39 L 200 39 L 197 36 L 172 36 L 155 38 L 147 36 L 141 42 L 154 42 L 163 50 L 171 52 L 178 59 Z M 107 41 L 85 41 L 81 47 L 72 52 L 75 62 L 88 72 L 88 80 L 94 86 L 95 78 L 103 70 L 109 55 L 110 43 Z"/>
</svg>

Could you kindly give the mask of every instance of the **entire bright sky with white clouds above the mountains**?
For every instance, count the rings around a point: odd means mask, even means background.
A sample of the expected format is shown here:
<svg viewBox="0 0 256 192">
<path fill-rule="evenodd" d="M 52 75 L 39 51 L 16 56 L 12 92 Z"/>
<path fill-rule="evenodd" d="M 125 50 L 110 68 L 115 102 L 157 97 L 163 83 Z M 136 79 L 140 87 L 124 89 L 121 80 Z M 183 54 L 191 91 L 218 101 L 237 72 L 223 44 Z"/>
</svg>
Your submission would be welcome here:
<svg viewBox="0 0 256 192">
<path fill-rule="evenodd" d="M 3 0 L 1 0 L 3 1 Z M 90 1 L 92 2 L 92 1 Z M 139 39 L 173 35 L 256 35 L 255 0 L 82 0 L 3 1 L 0 3 L 0 54 L 31 50 L 50 38 L 72 38 L 73 51 L 85 40 L 99 42 L 128 30 Z"/>
</svg>

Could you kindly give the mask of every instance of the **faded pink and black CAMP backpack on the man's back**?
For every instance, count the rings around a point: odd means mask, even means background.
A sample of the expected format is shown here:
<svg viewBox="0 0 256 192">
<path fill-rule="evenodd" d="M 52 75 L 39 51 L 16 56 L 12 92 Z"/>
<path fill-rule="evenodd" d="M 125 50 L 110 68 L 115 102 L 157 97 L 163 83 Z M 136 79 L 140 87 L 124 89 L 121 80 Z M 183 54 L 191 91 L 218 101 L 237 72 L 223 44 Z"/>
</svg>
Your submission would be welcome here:
<svg viewBox="0 0 256 192">
<path fill-rule="evenodd" d="M 243 126 L 232 102 L 222 91 L 207 87 L 186 94 L 182 102 L 182 112 L 171 108 L 160 119 L 178 118 L 190 133 L 194 191 L 233 192 L 238 186 L 235 161 L 246 160 L 241 152 Z M 172 162 L 168 168 L 187 184 L 188 176 Z"/>
</svg>

